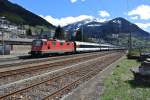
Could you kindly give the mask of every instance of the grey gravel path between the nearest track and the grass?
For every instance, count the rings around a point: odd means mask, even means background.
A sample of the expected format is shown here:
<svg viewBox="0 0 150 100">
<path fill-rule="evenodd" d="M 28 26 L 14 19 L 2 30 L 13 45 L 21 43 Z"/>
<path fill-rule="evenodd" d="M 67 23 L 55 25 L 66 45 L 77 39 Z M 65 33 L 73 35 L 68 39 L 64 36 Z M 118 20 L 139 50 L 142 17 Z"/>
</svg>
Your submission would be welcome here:
<svg viewBox="0 0 150 100">
<path fill-rule="evenodd" d="M 90 79 L 88 82 L 80 85 L 73 92 L 64 96 L 62 100 L 100 100 L 100 95 L 105 89 L 103 83 L 104 79 L 112 73 L 112 70 L 123 58 L 125 58 L 125 56 L 109 65 L 107 68 L 105 68 L 105 70 L 101 71 L 98 75 Z"/>
</svg>

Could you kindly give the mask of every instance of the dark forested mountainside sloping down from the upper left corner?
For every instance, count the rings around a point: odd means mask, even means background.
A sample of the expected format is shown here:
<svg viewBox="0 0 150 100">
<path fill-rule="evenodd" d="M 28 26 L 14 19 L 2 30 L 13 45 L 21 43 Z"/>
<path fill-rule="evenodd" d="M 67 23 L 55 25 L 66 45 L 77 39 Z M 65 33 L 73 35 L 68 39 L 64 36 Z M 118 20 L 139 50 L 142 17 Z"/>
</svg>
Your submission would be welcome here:
<svg viewBox="0 0 150 100">
<path fill-rule="evenodd" d="M 7 20 L 15 24 L 24 24 L 31 26 L 44 25 L 48 27 L 54 27 L 43 18 L 35 15 L 34 13 L 24 9 L 17 4 L 11 3 L 8 0 L 0 0 L 0 16 L 5 16 Z"/>
</svg>

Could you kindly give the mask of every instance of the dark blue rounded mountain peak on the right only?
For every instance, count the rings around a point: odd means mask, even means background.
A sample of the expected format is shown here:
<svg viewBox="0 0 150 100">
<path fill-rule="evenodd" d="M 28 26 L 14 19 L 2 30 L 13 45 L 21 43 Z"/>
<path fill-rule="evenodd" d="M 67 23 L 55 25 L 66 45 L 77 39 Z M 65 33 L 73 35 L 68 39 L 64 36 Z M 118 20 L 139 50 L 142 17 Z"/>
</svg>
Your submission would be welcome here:
<svg viewBox="0 0 150 100">
<path fill-rule="evenodd" d="M 124 18 L 115 18 L 113 20 L 108 21 L 104 24 L 104 27 L 107 27 L 104 29 L 104 31 L 110 33 L 132 33 L 134 36 L 138 37 L 150 37 L 150 34 L 141 28 L 139 28 L 137 25 L 127 21 Z"/>
</svg>

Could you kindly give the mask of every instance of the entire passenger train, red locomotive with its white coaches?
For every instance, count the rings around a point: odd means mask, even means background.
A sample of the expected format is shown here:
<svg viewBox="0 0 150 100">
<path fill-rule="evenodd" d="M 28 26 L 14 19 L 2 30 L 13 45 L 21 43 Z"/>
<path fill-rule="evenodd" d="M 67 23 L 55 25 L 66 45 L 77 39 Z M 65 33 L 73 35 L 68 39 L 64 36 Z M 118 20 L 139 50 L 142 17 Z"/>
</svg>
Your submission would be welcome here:
<svg viewBox="0 0 150 100">
<path fill-rule="evenodd" d="M 120 49 L 111 44 L 97 44 L 90 42 L 65 41 L 58 39 L 36 39 L 32 42 L 31 55 L 60 54 L 60 53 L 79 53 L 101 50 Z"/>
</svg>

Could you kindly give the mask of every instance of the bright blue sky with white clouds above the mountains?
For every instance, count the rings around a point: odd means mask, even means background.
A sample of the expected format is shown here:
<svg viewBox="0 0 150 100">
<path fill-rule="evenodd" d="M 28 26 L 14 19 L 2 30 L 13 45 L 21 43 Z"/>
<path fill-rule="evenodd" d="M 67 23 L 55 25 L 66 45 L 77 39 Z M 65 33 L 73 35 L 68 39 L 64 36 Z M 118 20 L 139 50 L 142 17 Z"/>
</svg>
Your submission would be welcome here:
<svg viewBox="0 0 150 100">
<path fill-rule="evenodd" d="M 123 17 L 150 32 L 149 0 L 9 0 L 41 16 L 48 22 L 65 26 L 84 19 L 104 22 Z"/>
</svg>

